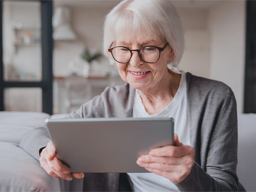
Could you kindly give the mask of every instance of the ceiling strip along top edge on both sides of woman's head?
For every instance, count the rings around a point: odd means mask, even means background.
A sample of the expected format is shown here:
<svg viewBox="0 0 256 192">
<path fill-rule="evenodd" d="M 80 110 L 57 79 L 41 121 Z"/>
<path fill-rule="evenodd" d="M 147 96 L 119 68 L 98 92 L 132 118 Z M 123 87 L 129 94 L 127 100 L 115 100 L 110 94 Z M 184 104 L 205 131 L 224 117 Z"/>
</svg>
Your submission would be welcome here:
<svg viewBox="0 0 256 192">
<path fill-rule="evenodd" d="M 221 0 L 172 0 L 177 9 L 209 9 L 220 3 Z M 89 8 L 112 8 L 120 0 L 54 0 L 54 6 L 89 7 Z"/>
</svg>

